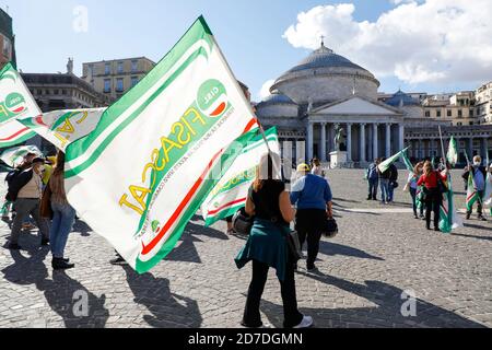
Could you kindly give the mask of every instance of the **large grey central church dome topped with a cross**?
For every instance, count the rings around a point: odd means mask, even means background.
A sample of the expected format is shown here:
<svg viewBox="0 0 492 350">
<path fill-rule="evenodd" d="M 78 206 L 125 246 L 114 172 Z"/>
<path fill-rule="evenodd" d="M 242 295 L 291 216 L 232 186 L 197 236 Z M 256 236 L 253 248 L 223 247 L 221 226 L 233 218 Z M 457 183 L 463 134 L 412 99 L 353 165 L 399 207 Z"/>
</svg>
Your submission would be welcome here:
<svg viewBox="0 0 492 350">
<path fill-rule="evenodd" d="M 288 95 L 297 104 L 328 103 L 356 93 L 377 100 L 379 82 L 364 68 L 335 54 L 324 43 L 298 65 L 282 74 L 271 92 Z"/>
</svg>

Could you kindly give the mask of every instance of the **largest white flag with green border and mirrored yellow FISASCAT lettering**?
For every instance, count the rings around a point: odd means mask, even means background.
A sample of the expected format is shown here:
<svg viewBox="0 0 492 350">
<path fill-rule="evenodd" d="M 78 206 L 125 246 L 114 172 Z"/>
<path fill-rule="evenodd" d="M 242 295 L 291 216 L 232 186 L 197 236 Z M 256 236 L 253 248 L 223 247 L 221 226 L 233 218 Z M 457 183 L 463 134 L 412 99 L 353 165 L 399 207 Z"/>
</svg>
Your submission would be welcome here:
<svg viewBox="0 0 492 350">
<path fill-rule="evenodd" d="M 257 133 L 203 18 L 66 152 L 68 199 L 138 272 L 186 224 Z"/>
</svg>

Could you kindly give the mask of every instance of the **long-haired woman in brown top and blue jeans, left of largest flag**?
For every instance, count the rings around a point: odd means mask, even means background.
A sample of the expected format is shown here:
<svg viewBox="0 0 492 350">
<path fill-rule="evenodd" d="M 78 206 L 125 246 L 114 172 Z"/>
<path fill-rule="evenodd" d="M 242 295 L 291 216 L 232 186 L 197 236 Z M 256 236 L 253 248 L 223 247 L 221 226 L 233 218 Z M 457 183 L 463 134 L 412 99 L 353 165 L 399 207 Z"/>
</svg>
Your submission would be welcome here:
<svg viewBox="0 0 492 350">
<path fill-rule="evenodd" d="M 65 153 L 58 151 L 57 165 L 49 179 L 48 186 L 51 190 L 51 209 L 54 212 L 51 230 L 49 231 L 49 242 L 51 246 L 52 261 L 55 270 L 71 269 L 75 265 L 69 264 L 69 259 L 63 257 L 65 246 L 70 231 L 75 220 L 75 210 L 67 200 L 65 191 Z"/>
</svg>

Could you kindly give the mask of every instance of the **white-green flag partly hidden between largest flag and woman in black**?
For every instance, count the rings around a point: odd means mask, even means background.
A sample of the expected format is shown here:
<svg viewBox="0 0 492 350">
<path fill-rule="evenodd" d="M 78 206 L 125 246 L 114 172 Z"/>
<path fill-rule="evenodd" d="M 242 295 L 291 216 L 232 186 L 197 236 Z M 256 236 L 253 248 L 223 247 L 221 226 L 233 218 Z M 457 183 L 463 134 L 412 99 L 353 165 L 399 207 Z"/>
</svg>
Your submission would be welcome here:
<svg viewBox="0 0 492 350">
<path fill-rule="evenodd" d="M 233 215 L 246 205 L 248 189 L 256 177 L 256 167 L 261 155 L 270 152 L 280 154 L 279 136 L 277 128 L 265 132 L 265 139 L 258 135 L 250 144 L 243 149 L 239 156 L 227 170 L 225 175 L 212 189 L 201 206 L 201 214 L 206 225 Z"/>
</svg>

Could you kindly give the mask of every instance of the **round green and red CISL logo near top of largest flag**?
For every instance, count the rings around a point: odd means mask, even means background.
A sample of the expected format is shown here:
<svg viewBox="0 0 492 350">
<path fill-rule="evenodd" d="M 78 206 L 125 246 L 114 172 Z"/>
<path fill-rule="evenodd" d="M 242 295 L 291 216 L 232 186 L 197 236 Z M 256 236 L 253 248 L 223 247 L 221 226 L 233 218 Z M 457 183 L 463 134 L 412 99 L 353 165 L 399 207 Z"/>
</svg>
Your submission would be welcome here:
<svg viewBox="0 0 492 350">
<path fill-rule="evenodd" d="M 221 117 L 229 107 L 227 92 L 219 80 L 210 79 L 201 84 L 197 97 L 198 107 L 208 117 Z"/>
</svg>

